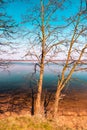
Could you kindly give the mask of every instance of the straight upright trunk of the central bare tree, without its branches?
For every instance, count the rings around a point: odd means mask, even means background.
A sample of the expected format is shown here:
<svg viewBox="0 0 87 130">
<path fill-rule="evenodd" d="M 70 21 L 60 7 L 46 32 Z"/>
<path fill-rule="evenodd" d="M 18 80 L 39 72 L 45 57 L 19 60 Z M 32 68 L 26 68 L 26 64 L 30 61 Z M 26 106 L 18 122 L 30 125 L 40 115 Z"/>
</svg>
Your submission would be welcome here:
<svg viewBox="0 0 87 130">
<path fill-rule="evenodd" d="M 38 83 L 38 92 L 35 104 L 35 114 L 42 114 L 41 113 L 41 95 L 42 95 L 42 85 L 43 85 L 43 75 L 44 75 L 44 60 L 45 60 L 45 26 L 44 26 L 44 1 L 40 0 L 41 2 L 41 33 L 42 33 L 42 55 L 41 55 L 41 63 L 40 63 L 40 78 Z"/>
</svg>

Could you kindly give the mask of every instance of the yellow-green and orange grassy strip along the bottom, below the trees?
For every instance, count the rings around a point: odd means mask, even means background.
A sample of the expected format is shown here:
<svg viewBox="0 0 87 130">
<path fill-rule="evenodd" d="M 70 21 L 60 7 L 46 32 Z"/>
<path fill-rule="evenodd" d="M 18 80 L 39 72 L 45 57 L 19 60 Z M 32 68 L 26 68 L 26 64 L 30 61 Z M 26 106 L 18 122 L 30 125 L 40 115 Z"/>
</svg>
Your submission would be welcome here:
<svg viewBox="0 0 87 130">
<path fill-rule="evenodd" d="M 87 130 L 87 116 L 61 116 L 56 120 L 30 115 L 6 117 L 0 120 L 0 130 Z"/>
</svg>

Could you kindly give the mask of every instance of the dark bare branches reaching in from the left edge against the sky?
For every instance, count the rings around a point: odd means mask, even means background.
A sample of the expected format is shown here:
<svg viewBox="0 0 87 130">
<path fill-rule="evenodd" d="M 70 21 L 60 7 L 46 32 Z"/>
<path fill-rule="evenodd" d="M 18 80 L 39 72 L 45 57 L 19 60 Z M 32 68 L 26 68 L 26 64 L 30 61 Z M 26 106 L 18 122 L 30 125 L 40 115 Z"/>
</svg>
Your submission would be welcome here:
<svg viewBox="0 0 87 130">
<path fill-rule="evenodd" d="M 9 46 L 9 48 L 12 49 L 11 39 L 13 39 L 15 28 L 17 26 L 16 21 L 13 20 L 12 16 L 8 16 L 5 9 L 6 5 L 10 2 L 12 2 L 12 0 L 0 0 L 0 55 L 8 53 L 8 51 L 3 48 L 7 48 Z M 8 65 L 9 64 L 7 62 L 0 59 L 0 68 L 6 68 Z"/>
</svg>

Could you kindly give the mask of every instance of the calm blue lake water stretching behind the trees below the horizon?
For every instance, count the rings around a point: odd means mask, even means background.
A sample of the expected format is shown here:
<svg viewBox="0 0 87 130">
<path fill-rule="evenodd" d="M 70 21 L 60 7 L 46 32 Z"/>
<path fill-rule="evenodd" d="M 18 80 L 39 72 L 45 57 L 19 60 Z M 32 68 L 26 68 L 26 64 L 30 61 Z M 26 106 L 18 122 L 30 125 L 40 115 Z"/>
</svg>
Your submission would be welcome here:
<svg viewBox="0 0 87 130">
<path fill-rule="evenodd" d="M 43 81 L 44 88 L 56 88 L 61 68 L 61 66 L 55 64 L 45 66 Z M 0 69 L 0 92 L 8 91 L 9 89 L 36 86 L 39 75 L 39 67 L 37 66 L 36 74 L 33 72 L 34 64 L 30 64 L 28 62 L 14 62 L 11 63 L 7 69 Z M 66 88 L 69 87 L 77 89 L 78 91 L 87 91 L 87 72 L 75 72 Z"/>
</svg>

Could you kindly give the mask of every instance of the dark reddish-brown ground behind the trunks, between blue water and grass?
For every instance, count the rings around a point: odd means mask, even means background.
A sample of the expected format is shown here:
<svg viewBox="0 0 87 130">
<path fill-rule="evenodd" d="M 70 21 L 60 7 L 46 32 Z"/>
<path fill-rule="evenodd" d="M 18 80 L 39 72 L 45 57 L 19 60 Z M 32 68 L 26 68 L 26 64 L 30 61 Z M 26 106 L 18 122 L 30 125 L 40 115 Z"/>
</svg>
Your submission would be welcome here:
<svg viewBox="0 0 87 130">
<path fill-rule="evenodd" d="M 32 95 L 33 94 L 33 95 Z M 67 91 L 62 94 L 59 104 L 59 115 L 87 115 L 87 93 Z M 21 90 L 9 91 L 8 93 L 0 94 L 0 115 L 7 112 L 15 112 L 20 114 L 21 111 L 31 111 L 32 100 L 36 94 L 27 88 Z M 44 92 L 42 99 L 45 100 L 46 110 L 53 111 L 54 93 Z M 34 104 L 33 104 L 34 105 Z"/>
</svg>

